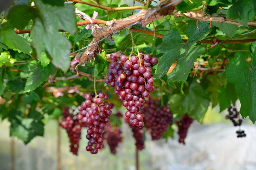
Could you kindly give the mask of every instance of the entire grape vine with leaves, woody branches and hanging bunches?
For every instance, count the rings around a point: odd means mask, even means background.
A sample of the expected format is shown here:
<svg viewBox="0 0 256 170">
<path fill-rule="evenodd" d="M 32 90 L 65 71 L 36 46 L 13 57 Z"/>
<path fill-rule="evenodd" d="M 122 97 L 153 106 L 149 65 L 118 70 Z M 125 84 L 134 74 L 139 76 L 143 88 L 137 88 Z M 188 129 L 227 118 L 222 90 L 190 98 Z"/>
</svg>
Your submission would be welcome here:
<svg viewBox="0 0 256 170">
<path fill-rule="evenodd" d="M 176 127 L 185 144 L 209 106 L 228 111 L 238 138 L 250 136 L 241 124 L 256 121 L 253 0 L 68 1 L 0 7 L 0 119 L 11 137 L 28 144 L 54 119 L 74 155 L 83 137 L 88 154 L 104 141 L 114 154 L 126 137 L 114 106 L 139 150 L 146 132 L 158 140 Z"/>
</svg>

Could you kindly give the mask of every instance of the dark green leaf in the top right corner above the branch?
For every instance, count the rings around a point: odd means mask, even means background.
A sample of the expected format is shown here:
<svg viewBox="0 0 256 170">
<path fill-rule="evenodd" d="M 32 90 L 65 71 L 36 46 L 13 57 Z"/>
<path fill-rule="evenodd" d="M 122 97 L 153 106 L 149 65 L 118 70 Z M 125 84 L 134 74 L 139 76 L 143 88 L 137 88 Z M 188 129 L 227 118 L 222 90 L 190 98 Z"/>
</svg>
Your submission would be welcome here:
<svg viewBox="0 0 256 170">
<path fill-rule="evenodd" d="M 247 20 L 255 17 L 255 0 L 239 0 L 228 9 L 227 18 L 232 18 L 241 24 L 248 26 Z"/>
</svg>

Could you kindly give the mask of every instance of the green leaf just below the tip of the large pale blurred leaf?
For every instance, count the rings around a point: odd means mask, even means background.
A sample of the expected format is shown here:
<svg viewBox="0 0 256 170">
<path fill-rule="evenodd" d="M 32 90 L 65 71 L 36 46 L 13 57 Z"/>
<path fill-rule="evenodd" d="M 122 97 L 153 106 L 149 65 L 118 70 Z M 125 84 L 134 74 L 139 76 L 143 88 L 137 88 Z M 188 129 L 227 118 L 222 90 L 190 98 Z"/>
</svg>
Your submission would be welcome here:
<svg viewBox="0 0 256 170">
<path fill-rule="evenodd" d="M 31 71 L 25 85 L 25 92 L 35 90 L 44 81 L 47 81 L 50 75 L 55 75 L 55 73 L 56 68 L 53 65 L 49 64 L 45 68 L 39 65 L 35 70 Z"/>
</svg>

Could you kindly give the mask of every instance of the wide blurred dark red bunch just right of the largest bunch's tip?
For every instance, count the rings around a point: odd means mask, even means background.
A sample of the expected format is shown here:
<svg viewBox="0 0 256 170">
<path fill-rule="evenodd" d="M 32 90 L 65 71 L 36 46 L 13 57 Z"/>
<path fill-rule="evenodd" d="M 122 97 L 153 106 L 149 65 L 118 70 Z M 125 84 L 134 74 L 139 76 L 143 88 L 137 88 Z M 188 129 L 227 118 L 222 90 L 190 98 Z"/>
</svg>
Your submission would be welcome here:
<svg viewBox="0 0 256 170">
<path fill-rule="evenodd" d="M 168 125 L 173 124 L 173 117 L 169 107 L 161 107 L 160 101 L 156 104 L 152 98 L 149 98 L 144 103 L 144 109 L 140 113 L 144 115 L 143 121 L 147 131 L 151 134 L 152 140 L 160 139 L 167 130 Z"/>
</svg>

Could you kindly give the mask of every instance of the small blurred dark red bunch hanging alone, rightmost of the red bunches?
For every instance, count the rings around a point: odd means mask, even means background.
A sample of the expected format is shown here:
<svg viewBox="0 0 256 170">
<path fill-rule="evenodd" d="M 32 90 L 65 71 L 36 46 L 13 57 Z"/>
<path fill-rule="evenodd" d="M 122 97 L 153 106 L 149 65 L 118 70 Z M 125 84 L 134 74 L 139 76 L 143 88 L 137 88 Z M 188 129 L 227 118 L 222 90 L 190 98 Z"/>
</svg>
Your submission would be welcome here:
<svg viewBox="0 0 256 170">
<path fill-rule="evenodd" d="M 179 143 L 185 145 L 185 138 L 188 134 L 188 128 L 193 123 L 193 119 L 185 114 L 180 121 L 176 121 L 178 126 Z"/>
</svg>

